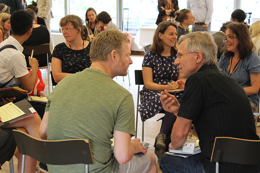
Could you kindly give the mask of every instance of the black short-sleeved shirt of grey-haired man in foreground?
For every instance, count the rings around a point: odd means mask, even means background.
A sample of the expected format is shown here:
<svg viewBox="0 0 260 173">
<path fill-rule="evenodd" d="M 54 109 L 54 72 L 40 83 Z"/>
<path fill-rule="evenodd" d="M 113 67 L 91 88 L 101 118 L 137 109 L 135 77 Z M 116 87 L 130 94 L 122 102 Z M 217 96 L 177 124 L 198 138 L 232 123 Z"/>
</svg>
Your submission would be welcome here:
<svg viewBox="0 0 260 173">
<path fill-rule="evenodd" d="M 215 137 L 259 140 L 245 90 L 215 65 L 203 65 L 187 79 L 178 116 L 193 120 L 199 157 L 208 173 L 215 172 L 215 163 L 210 162 Z M 220 172 L 259 171 L 259 165 L 220 163 Z"/>
</svg>

